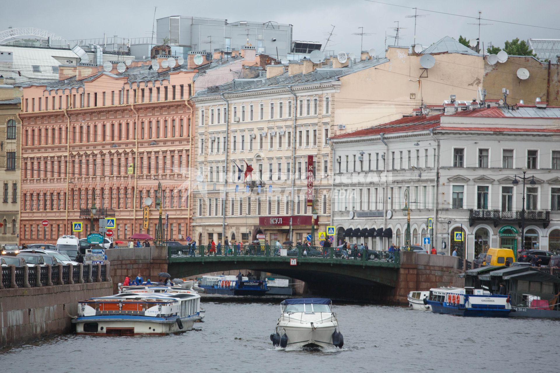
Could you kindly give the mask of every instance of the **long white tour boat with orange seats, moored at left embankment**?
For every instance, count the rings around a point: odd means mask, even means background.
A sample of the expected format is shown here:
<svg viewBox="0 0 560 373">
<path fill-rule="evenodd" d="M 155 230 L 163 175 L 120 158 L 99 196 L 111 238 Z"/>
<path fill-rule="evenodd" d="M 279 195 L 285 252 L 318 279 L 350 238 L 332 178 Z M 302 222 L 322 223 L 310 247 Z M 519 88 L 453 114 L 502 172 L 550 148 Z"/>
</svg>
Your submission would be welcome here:
<svg viewBox="0 0 560 373">
<path fill-rule="evenodd" d="M 192 330 L 200 295 L 188 292 L 123 292 L 78 303 L 76 333 L 89 336 L 163 336 Z"/>
</svg>

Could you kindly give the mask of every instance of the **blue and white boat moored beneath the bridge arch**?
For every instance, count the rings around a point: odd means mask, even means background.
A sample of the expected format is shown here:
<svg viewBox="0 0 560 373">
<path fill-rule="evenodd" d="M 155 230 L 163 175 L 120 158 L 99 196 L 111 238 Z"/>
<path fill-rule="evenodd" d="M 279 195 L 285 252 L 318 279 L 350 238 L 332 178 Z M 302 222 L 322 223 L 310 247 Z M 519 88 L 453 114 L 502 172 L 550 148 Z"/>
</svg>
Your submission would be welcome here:
<svg viewBox="0 0 560 373">
<path fill-rule="evenodd" d="M 222 295 L 265 295 L 268 286 L 264 280 L 256 280 L 249 277 L 241 277 L 241 281 L 237 276 L 218 275 L 202 276 L 198 285 L 206 294 L 222 294 Z"/>
</svg>

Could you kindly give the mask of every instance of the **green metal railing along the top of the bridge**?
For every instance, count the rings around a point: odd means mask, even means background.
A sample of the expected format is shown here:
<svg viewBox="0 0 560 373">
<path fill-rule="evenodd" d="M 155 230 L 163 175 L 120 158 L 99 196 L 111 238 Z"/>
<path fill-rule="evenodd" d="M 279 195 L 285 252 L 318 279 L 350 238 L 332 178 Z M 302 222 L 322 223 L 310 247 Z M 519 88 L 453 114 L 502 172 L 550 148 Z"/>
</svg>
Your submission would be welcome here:
<svg viewBox="0 0 560 373">
<path fill-rule="evenodd" d="M 375 251 L 367 249 L 340 249 L 320 246 L 269 246 L 244 245 L 211 245 L 172 246 L 168 248 L 169 259 L 183 259 L 200 257 L 287 257 L 287 258 L 315 258 L 315 259 L 343 259 L 348 261 L 399 263 L 399 252 Z M 199 260 L 199 259 L 195 259 Z"/>
</svg>

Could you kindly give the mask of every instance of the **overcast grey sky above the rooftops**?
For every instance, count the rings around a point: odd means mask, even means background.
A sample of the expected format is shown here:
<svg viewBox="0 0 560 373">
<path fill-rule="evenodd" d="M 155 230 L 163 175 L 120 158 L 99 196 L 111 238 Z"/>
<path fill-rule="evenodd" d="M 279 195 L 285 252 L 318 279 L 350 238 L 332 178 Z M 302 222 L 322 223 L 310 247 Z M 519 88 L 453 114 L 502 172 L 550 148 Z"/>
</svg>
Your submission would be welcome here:
<svg viewBox="0 0 560 373">
<path fill-rule="evenodd" d="M 458 39 L 459 35 L 468 39 L 478 36 L 478 26 L 472 18 L 438 14 L 430 11 L 478 16 L 497 21 L 525 23 L 528 25 L 554 27 L 560 29 L 560 5 L 558 0 L 528 2 L 521 0 L 385 0 L 386 3 L 408 7 L 418 7 L 417 43 L 428 46 L 443 36 Z M 22 6 L 25 4 L 25 6 Z M 122 7 L 118 5 L 122 4 Z M 117 5 L 117 6 L 115 6 Z M 318 2 L 301 0 L 262 0 L 262 1 L 223 1 L 223 0 L 134 0 L 132 2 L 97 0 L 95 2 L 69 2 L 67 0 L 24 2 L 2 0 L 0 31 L 8 27 L 38 27 L 62 36 L 64 39 L 88 39 L 108 36 L 144 37 L 150 36 L 154 6 L 157 5 L 156 18 L 182 15 L 227 19 L 234 21 L 276 21 L 293 25 L 293 40 L 326 41 L 328 32 L 335 25 L 331 43 L 326 49 L 357 53 L 360 50 L 360 36 L 364 32 L 374 35 L 363 37 L 363 49 L 375 48 L 381 51 L 385 45 L 385 32 L 394 35 L 391 27 L 399 21 L 403 39 L 399 45 L 411 45 L 414 37 L 414 10 L 390 6 L 366 0 L 321 0 Z M 430 11 L 426 11 L 430 10 Z M 538 27 L 518 26 L 495 21 L 480 29 L 484 47 L 492 42 L 503 46 L 503 41 L 515 37 L 520 39 L 546 38 L 560 39 L 560 30 Z M 389 39 L 387 45 L 395 44 Z"/>
</svg>

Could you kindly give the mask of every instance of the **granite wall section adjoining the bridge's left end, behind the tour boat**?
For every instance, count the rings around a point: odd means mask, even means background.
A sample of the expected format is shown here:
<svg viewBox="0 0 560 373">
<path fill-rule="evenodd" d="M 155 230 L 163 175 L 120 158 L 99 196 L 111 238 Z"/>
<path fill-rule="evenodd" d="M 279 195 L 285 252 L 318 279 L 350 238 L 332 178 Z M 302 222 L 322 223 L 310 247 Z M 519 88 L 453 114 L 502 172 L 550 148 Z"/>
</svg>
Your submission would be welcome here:
<svg viewBox="0 0 560 373">
<path fill-rule="evenodd" d="M 123 282 L 127 275 L 136 278 L 140 273 L 144 281 L 149 278 L 157 282 L 157 274 L 167 272 L 166 246 L 108 249 L 105 254 L 111 263 L 110 275 L 115 293 L 118 292 L 119 282 Z"/>
</svg>

